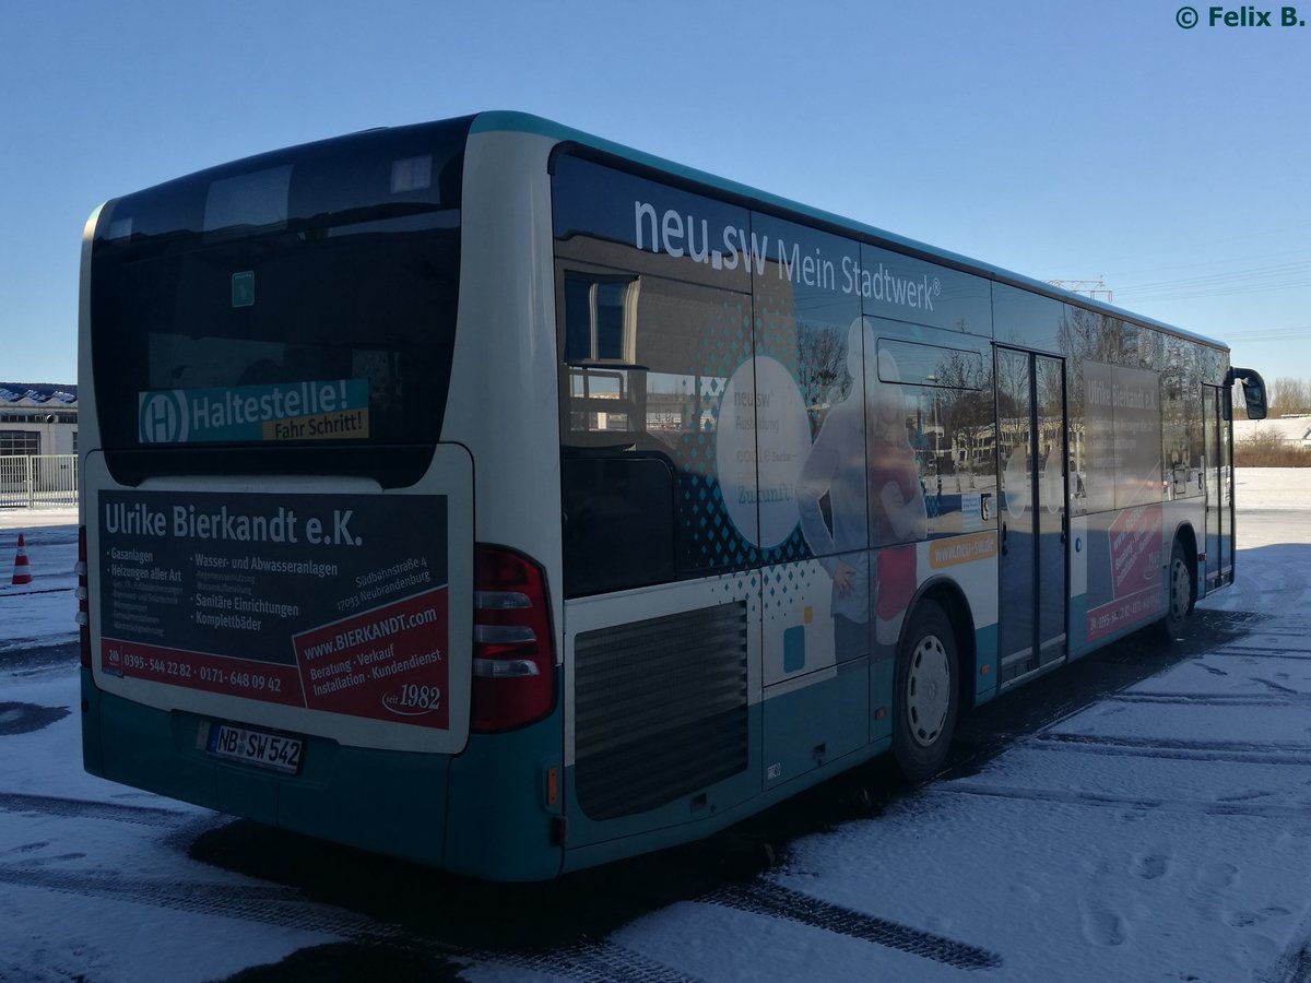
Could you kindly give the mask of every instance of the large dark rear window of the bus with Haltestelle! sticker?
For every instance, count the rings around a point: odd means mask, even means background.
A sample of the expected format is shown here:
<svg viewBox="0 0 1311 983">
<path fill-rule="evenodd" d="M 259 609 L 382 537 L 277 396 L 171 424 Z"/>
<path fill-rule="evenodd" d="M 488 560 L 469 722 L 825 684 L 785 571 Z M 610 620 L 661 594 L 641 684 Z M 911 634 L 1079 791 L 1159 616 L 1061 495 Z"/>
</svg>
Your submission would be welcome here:
<svg viewBox="0 0 1311 983">
<path fill-rule="evenodd" d="M 435 443 L 468 125 L 275 151 L 106 206 L 90 296 L 106 448 Z"/>
</svg>

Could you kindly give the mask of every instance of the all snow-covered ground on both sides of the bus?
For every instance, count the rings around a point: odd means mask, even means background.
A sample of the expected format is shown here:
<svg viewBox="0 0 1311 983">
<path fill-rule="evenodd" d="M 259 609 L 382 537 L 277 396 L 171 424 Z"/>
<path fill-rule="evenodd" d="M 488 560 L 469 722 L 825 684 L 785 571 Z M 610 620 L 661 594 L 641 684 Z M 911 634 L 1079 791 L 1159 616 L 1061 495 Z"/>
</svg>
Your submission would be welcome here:
<svg viewBox="0 0 1311 983">
<path fill-rule="evenodd" d="M 1249 634 L 792 844 L 753 885 L 464 978 L 1311 979 L 1308 482 L 1238 472 L 1239 583 L 1202 604 L 1257 612 Z M 212 814 L 83 773 L 75 674 L 17 659 L 73 637 L 67 523 L 25 527 L 34 583 L 0 587 L 0 980 L 207 980 L 349 935 L 346 912 L 189 860 Z M 16 734 L 7 703 L 68 712 Z M 299 915 L 233 916 L 252 898 Z"/>
</svg>

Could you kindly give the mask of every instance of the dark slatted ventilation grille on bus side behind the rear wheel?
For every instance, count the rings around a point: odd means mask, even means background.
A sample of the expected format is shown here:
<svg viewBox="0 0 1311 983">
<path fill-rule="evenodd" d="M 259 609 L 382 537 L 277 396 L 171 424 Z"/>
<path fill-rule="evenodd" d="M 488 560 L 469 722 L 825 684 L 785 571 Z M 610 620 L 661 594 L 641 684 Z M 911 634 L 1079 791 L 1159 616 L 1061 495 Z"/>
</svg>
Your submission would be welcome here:
<svg viewBox="0 0 1311 983">
<path fill-rule="evenodd" d="M 593 819 L 673 802 L 746 771 L 746 603 L 579 634 L 576 788 Z"/>
</svg>

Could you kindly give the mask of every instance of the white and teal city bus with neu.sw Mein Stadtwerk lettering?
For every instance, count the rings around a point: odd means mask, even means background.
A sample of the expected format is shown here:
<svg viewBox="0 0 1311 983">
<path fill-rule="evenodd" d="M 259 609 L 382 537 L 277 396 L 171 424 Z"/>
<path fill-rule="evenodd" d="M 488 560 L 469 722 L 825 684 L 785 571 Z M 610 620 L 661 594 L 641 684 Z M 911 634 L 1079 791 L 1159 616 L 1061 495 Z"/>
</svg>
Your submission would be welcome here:
<svg viewBox="0 0 1311 983">
<path fill-rule="evenodd" d="M 109 201 L 85 768 L 486 879 L 687 841 L 1234 578 L 1224 345 L 517 113 Z M 1019 697 L 1016 697 L 1019 699 Z"/>
</svg>

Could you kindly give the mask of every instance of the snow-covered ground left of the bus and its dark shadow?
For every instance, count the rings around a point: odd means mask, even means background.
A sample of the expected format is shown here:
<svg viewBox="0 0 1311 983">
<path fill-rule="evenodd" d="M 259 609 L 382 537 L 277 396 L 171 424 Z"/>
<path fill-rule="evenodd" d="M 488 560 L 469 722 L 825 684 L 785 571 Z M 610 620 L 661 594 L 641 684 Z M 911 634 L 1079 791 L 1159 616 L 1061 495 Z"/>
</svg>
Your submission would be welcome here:
<svg viewBox="0 0 1311 983">
<path fill-rule="evenodd" d="M 210 980 L 336 938 L 223 917 L 281 889 L 187 858 L 222 819 L 83 771 L 76 666 L 30 657 L 77 637 L 76 520 L 0 511 L 0 980 Z M 26 586 L 10 583 L 20 531 Z"/>
</svg>

